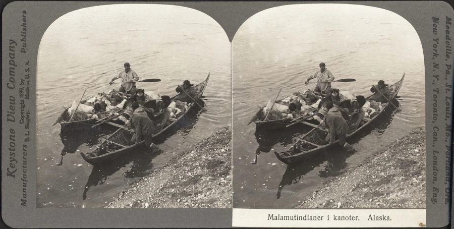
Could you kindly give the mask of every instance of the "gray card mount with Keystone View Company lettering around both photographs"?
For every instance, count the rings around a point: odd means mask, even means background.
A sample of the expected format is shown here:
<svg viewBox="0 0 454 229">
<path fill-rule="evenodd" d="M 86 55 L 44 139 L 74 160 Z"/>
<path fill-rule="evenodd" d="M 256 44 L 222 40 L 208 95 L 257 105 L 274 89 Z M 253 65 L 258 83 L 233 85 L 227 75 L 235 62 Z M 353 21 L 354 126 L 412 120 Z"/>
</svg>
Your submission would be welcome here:
<svg viewBox="0 0 454 229">
<path fill-rule="evenodd" d="M 130 2 L 140 3 L 140 2 Z M 226 31 L 232 41 L 235 32 L 241 24 L 249 17 L 264 9 L 289 5 L 289 4 L 309 4 L 301 2 L 153 2 L 148 4 L 168 4 L 193 8 L 206 13 L 215 19 Z M 321 2 L 316 2 L 321 3 Z M 323 2 L 328 3 L 328 2 Z M 349 2 L 329 2 L 329 3 L 349 3 Z M 36 208 L 36 153 L 33 151 L 36 146 L 36 139 L 31 138 L 28 145 L 27 154 L 27 207 L 21 206 L 22 182 L 20 177 L 22 171 L 18 171 L 15 179 L 7 177 L 9 167 L 10 129 L 14 129 L 16 135 L 16 145 L 18 155 L 18 166 L 22 165 L 22 146 L 24 143 L 24 124 L 19 124 L 16 114 L 16 122 L 8 122 L 8 111 L 10 96 L 16 98 L 15 111 L 19 109 L 19 91 L 17 86 L 20 79 L 24 77 L 26 61 L 30 61 L 30 99 L 25 100 L 25 110 L 30 110 L 30 136 L 36 136 L 36 62 L 39 42 L 47 27 L 60 16 L 85 7 L 116 4 L 115 2 L 13 2 L 8 4 L 2 15 L 2 217 L 4 221 L 12 227 L 229 227 L 232 225 L 232 209 L 38 209 Z M 128 4 L 121 3 L 118 4 Z M 445 203 L 445 188 L 450 184 L 443 184 L 444 161 L 439 159 L 438 163 L 443 165 L 438 173 L 438 181 L 432 184 L 431 175 L 433 173 L 433 161 L 430 154 L 433 150 L 440 153 L 446 151 L 445 143 L 439 140 L 439 144 L 431 146 L 433 134 L 430 130 L 434 126 L 440 127 L 439 136 L 444 138 L 445 134 L 451 139 L 451 132 L 445 131 L 445 125 L 451 124 L 451 119 L 446 121 L 444 118 L 445 108 L 452 110 L 452 102 L 445 105 L 444 97 L 451 96 L 452 91 L 446 93 L 445 84 L 452 86 L 452 72 L 444 77 L 444 69 L 439 70 L 440 80 L 432 84 L 432 39 L 440 38 L 444 41 L 445 17 L 454 17 L 452 7 L 445 2 L 352 2 L 352 4 L 374 6 L 397 13 L 407 19 L 418 32 L 425 55 L 426 68 L 426 129 L 427 129 L 427 226 L 440 227 L 448 223 L 449 201 Z M 22 31 L 22 15 L 26 11 L 27 16 L 27 53 L 20 53 L 20 32 Z M 432 33 L 432 17 L 438 17 L 438 35 Z M 452 28 L 449 29 L 452 34 Z M 451 35 L 452 37 L 452 35 Z M 15 84 L 16 89 L 9 89 L 7 83 L 9 77 L 9 40 L 14 39 L 18 42 L 16 47 L 15 63 L 16 68 Z M 444 53 L 443 43 L 438 47 Z M 452 57 L 444 61 L 440 58 L 440 66 L 452 64 Z M 438 71 L 438 70 L 437 70 Z M 432 123 L 434 116 L 432 112 L 433 89 L 439 88 L 437 111 L 440 119 Z M 451 113 L 452 115 L 452 113 Z M 440 143 L 443 142 L 443 143 Z M 448 142 L 448 145 L 451 143 Z M 235 152 L 233 152 L 235 153 Z M 449 155 L 448 155 L 449 156 Z M 450 158 L 448 158 L 449 160 Z M 430 179 L 429 179 L 430 178 Z M 233 177 L 235 179 L 235 177 Z M 431 202 L 432 187 L 439 188 L 438 202 Z M 448 189 L 449 190 L 449 189 Z M 447 193 L 450 196 L 450 193 Z"/>
</svg>

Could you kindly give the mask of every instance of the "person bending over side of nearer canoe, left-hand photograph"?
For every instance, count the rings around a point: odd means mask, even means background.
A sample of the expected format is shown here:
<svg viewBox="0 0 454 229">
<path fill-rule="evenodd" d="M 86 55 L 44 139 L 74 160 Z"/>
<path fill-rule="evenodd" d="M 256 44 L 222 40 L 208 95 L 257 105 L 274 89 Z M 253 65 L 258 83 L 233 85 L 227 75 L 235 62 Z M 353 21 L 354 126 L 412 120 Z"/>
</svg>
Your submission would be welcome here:
<svg viewBox="0 0 454 229">
<path fill-rule="evenodd" d="M 153 122 L 146 115 L 146 111 L 139 106 L 138 102 L 133 102 L 131 108 L 134 110 L 131 117 L 131 127 L 134 129 L 134 135 L 131 142 L 135 144 L 145 141 L 145 145 L 153 151 L 160 151 L 159 147 L 153 143 L 153 132 L 156 127 Z"/>
</svg>

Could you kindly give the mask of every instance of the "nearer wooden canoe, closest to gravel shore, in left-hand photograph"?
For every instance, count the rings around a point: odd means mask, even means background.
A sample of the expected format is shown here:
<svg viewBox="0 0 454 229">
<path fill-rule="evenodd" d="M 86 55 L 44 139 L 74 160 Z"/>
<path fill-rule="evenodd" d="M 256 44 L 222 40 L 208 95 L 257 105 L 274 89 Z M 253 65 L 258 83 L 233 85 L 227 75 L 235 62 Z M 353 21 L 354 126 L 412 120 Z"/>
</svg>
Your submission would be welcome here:
<svg viewBox="0 0 454 229">
<path fill-rule="evenodd" d="M 208 73 L 207 78 L 203 82 L 194 86 L 196 91 L 200 92 L 197 99 L 199 99 L 202 96 L 203 92 L 205 91 L 209 78 L 210 78 L 210 73 Z M 177 95 L 172 97 L 172 100 L 174 100 L 176 97 L 177 97 Z M 198 106 L 195 102 L 189 103 L 188 108 L 183 113 L 183 115 L 179 116 L 177 119 L 169 118 L 166 126 L 164 126 L 164 128 L 160 132 L 154 134 L 153 138 L 158 137 L 159 135 L 164 133 L 166 130 L 168 130 L 169 128 L 176 125 L 195 106 Z M 114 132 L 113 134 L 111 134 L 107 138 L 105 138 L 105 141 L 103 141 L 97 149 L 97 150 L 99 150 L 99 148 L 106 149 L 107 144 L 113 144 L 113 145 L 115 145 L 115 146 L 113 146 L 113 149 L 115 149 L 115 150 L 113 150 L 113 151 L 107 150 L 107 151 L 104 151 L 104 153 L 100 154 L 100 155 L 99 155 L 99 152 L 97 153 L 98 155 L 95 155 L 92 153 L 82 153 L 82 152 L 80 154 L 82 155 L 82 158 L 84 158 L 84 160 L 90 164 L 99 164 L 104 161 L 112 160 L 112 159 L 114 159 L 118 156 L 124 155 L 128 152 L 133 152 L 134 151 L 133 149 L 135 149 L 137 147 L 143 146 L 145 141 L 141 141 L 141 142 L 139 142 L 137 144 L 133 144 L 133 145 L 128 145 L 128 142 L 131 139 L 133 134 L 134 134 L 134 131 L 132 131 L 132 130 L 120 128 L 116 132 Z"/>
</svg>

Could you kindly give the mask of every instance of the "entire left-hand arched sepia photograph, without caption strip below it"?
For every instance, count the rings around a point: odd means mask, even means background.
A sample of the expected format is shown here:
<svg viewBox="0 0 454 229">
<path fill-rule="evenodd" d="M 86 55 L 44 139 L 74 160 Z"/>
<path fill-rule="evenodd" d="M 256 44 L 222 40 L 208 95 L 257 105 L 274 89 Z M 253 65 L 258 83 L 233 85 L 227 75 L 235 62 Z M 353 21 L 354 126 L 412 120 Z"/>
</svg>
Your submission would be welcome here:
<svg viewBox="0 0 454 229">
<path fill-rule="evenodd" d="M 231 43 L 200 11 L 63 15 L 37 57 L 37 207 L 232 207 L 231 91 Z"/>
</svg>

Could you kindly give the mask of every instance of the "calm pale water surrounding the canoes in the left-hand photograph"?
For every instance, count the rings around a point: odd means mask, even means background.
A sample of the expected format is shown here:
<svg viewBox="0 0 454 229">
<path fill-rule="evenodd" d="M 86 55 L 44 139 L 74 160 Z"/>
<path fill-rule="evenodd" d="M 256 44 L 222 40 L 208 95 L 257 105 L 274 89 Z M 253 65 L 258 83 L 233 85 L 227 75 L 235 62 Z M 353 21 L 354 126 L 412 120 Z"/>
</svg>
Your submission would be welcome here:
<svg viewBox="0 0 454 229">
<path fill-rule="evenodd" d="M 230 53 L 228 37 L 213 19 L 182 7 L 102 6 L 56 20 L 38 54 L 38 207 L 102 207 L 132 182 L 230 125 Z M 197 84 L 211 72 L 203 99 L 208 110 L 195 110 L 182 129 L 159 139 L 160 154 L 141 149 L 93 167 L 79 153 L 90 151 L 99 134 L 60 136 L 60 125 L 51 125 L 62 106 L 79 101 L 86 88 L 85 98 L 118 89 L 119 84 L 109 86 L 108 81 L 125 62 L 140 79 L 160 78 L 157 83 L 137 83 L 160 95 L 173 96 L 183 80 Z M 66 155 L 58 166 L 62 152 Z"/>
</svg>

